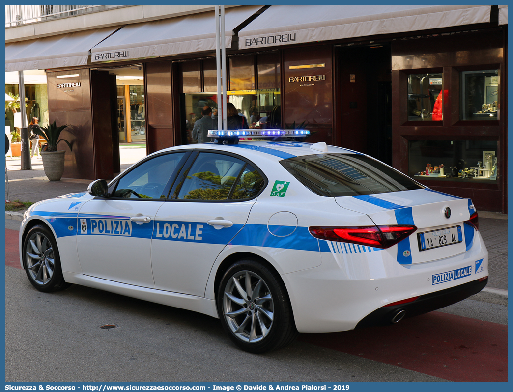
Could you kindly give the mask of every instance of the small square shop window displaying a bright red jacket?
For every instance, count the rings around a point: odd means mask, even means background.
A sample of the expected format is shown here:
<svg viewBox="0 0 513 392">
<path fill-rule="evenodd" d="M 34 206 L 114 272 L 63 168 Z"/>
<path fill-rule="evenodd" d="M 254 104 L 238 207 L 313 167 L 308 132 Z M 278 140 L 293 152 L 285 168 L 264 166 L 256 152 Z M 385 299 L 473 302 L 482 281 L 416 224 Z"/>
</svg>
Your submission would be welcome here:
<svg viewBox="0 0 513 392">
<path fill-rule="evenodd" d="M 442 73 L 408 76 L 408 121 L 442 121 Z"/>
</svg>

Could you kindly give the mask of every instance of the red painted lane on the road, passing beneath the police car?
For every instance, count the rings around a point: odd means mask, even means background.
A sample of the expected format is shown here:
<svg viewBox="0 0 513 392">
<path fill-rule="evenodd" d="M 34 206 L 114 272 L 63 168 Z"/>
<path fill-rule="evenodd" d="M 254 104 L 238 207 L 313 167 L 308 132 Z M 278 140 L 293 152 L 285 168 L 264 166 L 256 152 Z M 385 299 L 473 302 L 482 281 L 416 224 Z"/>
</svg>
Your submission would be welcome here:
<svg viewBox="0 0 513 392">
<path fill-rule="evenodd" d="M 5 265 L 16 268 L 18 233 L 5 229 Z M 507 334 L 507 325 L 434 311 L 389 327 L 298 339 L 448 381 L 507 382 Z"/>
</svg>

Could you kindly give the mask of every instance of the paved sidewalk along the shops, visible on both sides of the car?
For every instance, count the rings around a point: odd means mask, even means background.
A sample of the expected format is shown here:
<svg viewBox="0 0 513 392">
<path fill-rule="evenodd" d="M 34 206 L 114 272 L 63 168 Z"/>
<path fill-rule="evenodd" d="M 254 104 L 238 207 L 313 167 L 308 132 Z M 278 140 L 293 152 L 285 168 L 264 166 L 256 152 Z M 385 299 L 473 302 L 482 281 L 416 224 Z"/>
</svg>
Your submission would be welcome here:
<svg viewBox="0 0 513 392">
<path fill-rule="evenodd" d="M 146 147 L 123 145 L 120 148 L 121 170 L 146 155 Z M 55 198 L 62 194 L 85 192 L 92 180 L 75 180 L 63 178 L 61 181 L 50 182 L 43 170 L 43 163 L 32 159 L 32 170 L 20 170 L 21 160 L 7 158 L 10 200 L 22 202 L 38 202 Z M 21 213 L 6 211 L 6 219 L 20 220 Z M 503 298 L 507 304 L 508 289 L 508 215 L 497 212 L 479 211 L 479 231 L 489 252 L 488 285 L 478 296 L 488 301 L 486 296 Z M 494 303 L 496 299 L 494 299 Z M 502 302 L 501 302 L 502 303 Z"/>
</svg>

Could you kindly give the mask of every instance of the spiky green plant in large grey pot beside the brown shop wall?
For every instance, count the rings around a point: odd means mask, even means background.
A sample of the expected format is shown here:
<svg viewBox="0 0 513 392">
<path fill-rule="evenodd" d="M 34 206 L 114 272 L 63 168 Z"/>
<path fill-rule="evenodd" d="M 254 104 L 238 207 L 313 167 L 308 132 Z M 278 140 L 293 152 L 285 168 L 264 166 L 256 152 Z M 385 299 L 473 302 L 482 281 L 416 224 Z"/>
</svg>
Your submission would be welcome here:
<svg viewBox="0 0 513 392">
<path fill-rule="evenodd" d="M 64 154 L 66 151 L 57 151 L 57 144 L 64 141 L 71 151 L 71 144 L 67 140 L 59 139 L 61 132 L 67 128 L 67 125 L 57 127 L 55 121 L 47 127 L 35 128 L 34 133 L 40 135 L 46 140 L 48 148 L 46 151 L 41 151 L 43 158 L 43 168 L 45 169 L 46 177 L 50 181 L 60 181 L 64 173 Z"/>
</svg>

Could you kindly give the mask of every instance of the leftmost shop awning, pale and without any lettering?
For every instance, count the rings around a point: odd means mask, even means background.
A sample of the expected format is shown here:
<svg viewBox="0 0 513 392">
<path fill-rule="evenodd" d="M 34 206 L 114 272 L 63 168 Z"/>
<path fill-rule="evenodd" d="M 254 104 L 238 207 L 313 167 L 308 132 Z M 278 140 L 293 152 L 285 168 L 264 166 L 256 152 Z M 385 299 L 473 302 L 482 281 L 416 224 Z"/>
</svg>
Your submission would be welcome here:
<svg viewBox="0 0 513 392">
<path fill-rule="evenodd" d="M 5 70 L 86 65 L 89 50 L 119 27 L 105 27 L 5 44 Z"/>
</svg>

